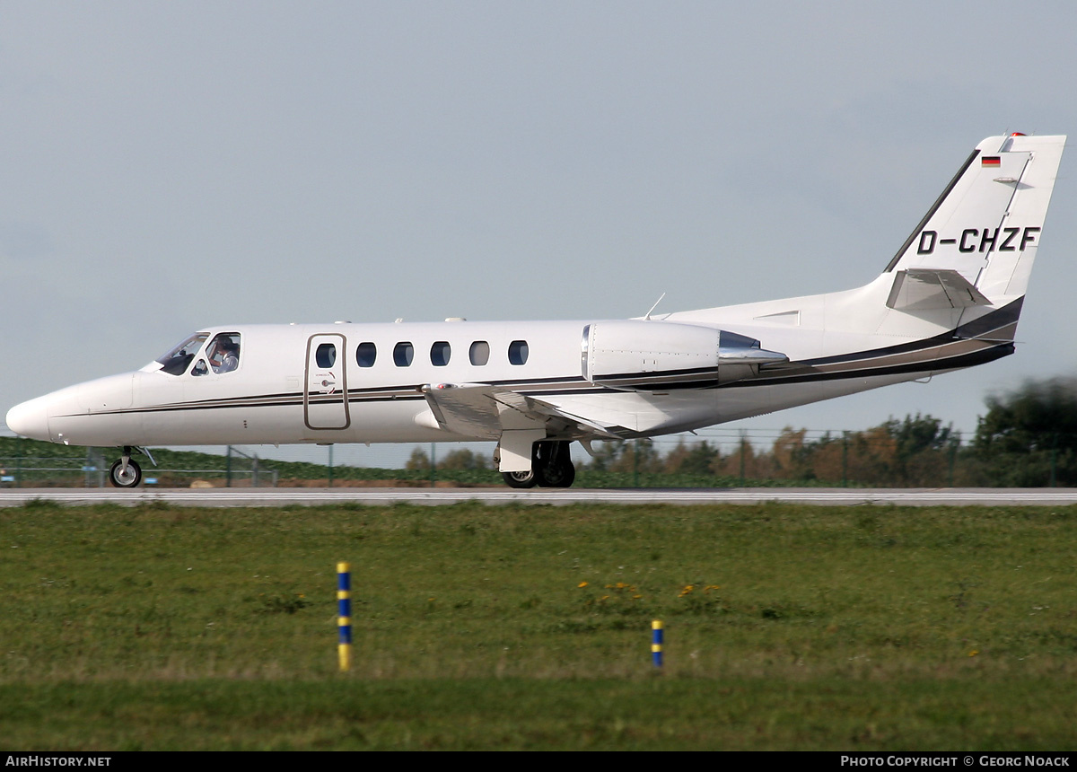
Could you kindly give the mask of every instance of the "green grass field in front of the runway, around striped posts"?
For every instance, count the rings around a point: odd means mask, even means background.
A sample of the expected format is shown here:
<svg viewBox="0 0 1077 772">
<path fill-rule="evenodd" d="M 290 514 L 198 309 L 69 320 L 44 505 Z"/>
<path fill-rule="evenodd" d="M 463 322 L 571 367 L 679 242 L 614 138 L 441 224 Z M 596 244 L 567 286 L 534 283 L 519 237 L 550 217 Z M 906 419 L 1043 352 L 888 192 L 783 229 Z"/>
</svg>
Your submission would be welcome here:
<svg viewBox="0 0 1077 772">
<path fill-rule="evenodd" d="M 1077 507 L 36 502 L 0 550 L 3 749 L 1077 741 Z"/>
</svg>

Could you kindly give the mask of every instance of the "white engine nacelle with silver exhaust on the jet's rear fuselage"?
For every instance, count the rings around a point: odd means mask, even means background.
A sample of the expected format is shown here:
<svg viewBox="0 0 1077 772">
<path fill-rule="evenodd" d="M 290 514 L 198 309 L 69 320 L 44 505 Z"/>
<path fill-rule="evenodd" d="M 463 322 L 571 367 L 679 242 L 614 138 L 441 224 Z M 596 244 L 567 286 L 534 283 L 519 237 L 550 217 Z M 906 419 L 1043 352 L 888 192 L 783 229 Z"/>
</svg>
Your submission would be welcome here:
<svg viewBox="0 0 1077 772">
<path fill-rule="evenodd" d="M 759 366 L 787 362 L 759 341 L 695 324 L 654 320 L 593 322 L 584 327 L 585 380 L 621 391 L 707 389 L 752 378 Z"/>
</svg>

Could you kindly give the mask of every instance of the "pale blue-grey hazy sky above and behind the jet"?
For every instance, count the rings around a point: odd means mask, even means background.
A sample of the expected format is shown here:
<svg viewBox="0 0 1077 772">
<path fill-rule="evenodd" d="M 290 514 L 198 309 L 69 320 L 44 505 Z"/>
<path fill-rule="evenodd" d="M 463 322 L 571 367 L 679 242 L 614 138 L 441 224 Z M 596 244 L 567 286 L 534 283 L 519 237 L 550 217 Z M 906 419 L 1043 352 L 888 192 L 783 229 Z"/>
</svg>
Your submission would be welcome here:
<svg viewBox="0 0 1077 772">
<path fill-rule="evenodd" d="M 1077 132 L 1072 2 L 0 0 L 0 417 L 256 322 L 610 319 L 851 289 L 971 149 Z M 1017 354 L 737 424 L 1072 376 L 1077 152 Z"/>
</svg>

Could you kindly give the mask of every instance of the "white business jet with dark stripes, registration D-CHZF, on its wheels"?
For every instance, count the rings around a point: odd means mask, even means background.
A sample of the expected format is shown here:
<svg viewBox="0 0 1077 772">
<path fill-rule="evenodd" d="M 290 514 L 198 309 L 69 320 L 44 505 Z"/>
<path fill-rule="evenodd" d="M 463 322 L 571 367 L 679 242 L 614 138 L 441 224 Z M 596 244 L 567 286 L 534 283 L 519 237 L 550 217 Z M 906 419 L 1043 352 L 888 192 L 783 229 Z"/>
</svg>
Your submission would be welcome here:
<svg viewBox="0 0 1077 772">
<path fill-rule="evenodd" d="M 514 488 L 569 446 L 684 432 L 991 362 L 1013 335 L 1065 137 L 990 137 L 878 279 L 631 320 L 228 325 L 11 409 L 24 436 L 132 449 L 495 440 Z M 652 309 L 654 310 L 654 309 Z M 152 460 L 152 455 L 150 455 Z"/>
</svg>

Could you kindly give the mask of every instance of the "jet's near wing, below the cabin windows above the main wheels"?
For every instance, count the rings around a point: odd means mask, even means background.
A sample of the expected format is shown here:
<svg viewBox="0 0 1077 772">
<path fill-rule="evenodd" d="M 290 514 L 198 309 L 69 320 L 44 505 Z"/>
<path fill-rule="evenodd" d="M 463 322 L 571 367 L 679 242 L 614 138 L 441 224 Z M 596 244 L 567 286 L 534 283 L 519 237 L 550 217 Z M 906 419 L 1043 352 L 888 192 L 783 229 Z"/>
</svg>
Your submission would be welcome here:
<svg viewBox="0 0 1077 772">
<path fill-rule="evenodd" d="M 476 439 L 499 439 L 503 432 L 545 427 L 549 421 L 582 437 L 621 439 L 630 434 L 624 426 L 606 426 L 486 383 L 437 383 L 423 387 L 422 392 L 440 429 Z"/>
</svg>

